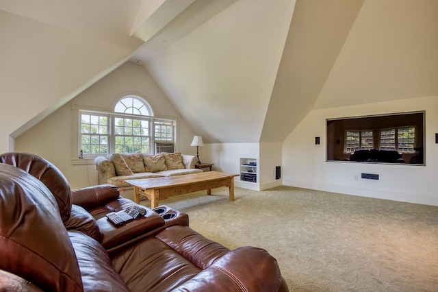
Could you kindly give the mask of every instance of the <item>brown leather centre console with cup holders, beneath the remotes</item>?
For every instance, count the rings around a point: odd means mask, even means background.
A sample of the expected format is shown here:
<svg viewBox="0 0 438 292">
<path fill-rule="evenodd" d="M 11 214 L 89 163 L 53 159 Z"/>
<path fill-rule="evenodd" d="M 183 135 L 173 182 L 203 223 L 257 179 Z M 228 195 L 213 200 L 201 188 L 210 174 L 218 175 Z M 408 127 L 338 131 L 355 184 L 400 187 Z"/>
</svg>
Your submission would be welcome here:
<svg viewBox="0 0 438 292">
<path fill-rule="evenodd" d="M 96 221 L 99 230 L 101 230 L 101 245 L 105 247 L 105 250 L 110 250 L 124 243 L 132 243 L 133 239 L 141 239 L 143 234 L 164 226 L 165 221 L 161 216 L 149 208 L 145 209 L 146 215 L 144 217 L 129 221 L 122 226 L 112 225 L 107 217 Z"/>
</svg>

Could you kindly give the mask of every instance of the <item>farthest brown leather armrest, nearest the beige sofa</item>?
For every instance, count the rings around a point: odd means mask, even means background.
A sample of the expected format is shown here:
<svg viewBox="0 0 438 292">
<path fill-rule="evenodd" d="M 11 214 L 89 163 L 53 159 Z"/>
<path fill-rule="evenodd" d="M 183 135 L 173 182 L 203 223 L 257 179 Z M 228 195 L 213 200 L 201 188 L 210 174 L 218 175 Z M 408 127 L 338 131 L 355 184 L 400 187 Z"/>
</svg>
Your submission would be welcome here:
<svg viewBox="0 0 438 292">
<path fill-rule="evenodd" d="M 72 202 L 86 210 L 91 210 L 120 197 L 118 188 L 112 184 L 88 186 L 71 191 Z"/>
</svg>

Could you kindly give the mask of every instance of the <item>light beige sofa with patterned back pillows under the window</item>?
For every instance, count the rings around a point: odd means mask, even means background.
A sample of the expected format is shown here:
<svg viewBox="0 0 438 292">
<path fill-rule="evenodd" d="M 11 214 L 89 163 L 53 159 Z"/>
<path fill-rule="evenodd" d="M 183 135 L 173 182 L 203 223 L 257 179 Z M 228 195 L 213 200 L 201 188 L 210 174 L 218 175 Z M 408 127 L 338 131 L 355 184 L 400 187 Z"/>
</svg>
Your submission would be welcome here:
<svg viewBox="0 0 438 292">
<path fill-rule="evenodd" d="M 99 184 L 113 184 L 120 195 L 133 199 L 133 186 L 125 180 L 160 178 L 172 175 L 200 173 L 195 169 L 196 156 L 175 153 L 109 154 L 94 159 Z"/>
</svg>

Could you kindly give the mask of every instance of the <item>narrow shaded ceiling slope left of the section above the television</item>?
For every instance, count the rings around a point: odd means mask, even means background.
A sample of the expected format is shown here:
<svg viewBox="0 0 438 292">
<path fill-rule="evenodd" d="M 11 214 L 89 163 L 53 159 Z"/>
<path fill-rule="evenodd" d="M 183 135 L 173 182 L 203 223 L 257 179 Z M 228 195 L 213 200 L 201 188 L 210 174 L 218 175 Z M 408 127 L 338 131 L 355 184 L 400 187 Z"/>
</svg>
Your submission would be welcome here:
<svg viewBox="0 0 438 292">
<path fill-rule="evenodd" d="M 283 141 L 313 108 L 362 4 L 296 2 L 261 142 Z"/>
</svg>

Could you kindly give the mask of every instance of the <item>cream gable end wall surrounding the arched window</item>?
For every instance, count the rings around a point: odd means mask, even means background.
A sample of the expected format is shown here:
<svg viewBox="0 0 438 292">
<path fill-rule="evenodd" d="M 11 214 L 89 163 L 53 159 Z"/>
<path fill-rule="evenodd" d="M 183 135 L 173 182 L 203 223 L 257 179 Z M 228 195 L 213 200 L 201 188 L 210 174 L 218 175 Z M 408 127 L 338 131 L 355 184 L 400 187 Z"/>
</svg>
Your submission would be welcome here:
<svg viewBox="0 0 438 292">
<path fill-rule="evenodd" d="M 178 145 L 182 153 L 193 154 L 190 147 L 194 133 L 179 118 L 179 113 L 170 104 L 157 84 L 143 66 L 127 62 L 102 80 L 75 97 L 70 103 L 53 112 L 46 119 L 16 138 L 15 151 L 26 151 L 46 158 L 56 165 L 71 188 L 97 184 L 97 173 L 92 161 L 89 165 L 73 165 L 73 104 L 84 109 L 112 110 L 116 99 L 125 94 L 136 93 L 146 98 L 156 117 L 179 119 Z M 194 151 L 196 154 L 196 149 Z M 83 160 L 86 162 L 86 160 Z"/>
</svg>

